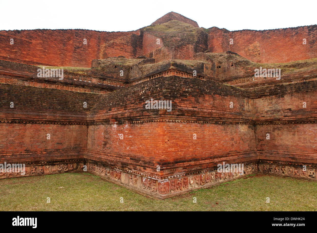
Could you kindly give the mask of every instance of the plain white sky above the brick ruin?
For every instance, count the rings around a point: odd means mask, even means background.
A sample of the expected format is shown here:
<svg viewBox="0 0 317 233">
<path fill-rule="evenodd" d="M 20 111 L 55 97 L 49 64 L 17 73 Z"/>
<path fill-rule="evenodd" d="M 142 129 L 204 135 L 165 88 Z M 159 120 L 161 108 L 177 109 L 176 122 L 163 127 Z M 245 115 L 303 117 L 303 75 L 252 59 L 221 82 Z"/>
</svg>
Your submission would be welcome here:
<svg viewBox="0 0 317 233">
<path fill-rule="evenodd" d="M 200 27 L 276 29 L 317 24 L 317 0 L 146 0 L 13 1 L 0 0 L 0 30 L 137 30 L 170 11 Z"/>
</svg>

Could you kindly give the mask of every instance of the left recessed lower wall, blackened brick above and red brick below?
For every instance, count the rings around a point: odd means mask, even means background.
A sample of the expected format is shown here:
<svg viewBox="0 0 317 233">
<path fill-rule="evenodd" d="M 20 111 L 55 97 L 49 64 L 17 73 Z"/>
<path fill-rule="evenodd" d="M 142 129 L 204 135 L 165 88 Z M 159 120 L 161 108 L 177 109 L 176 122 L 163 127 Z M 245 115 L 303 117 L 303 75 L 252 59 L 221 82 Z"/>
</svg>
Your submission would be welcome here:
<svg viewBox="0 0 317 233">
<path fill-rule="evenodd" d="M 99 94 L 10 84 L 0 84 L 0 93 L 0 159 L 83 158 L 87 146 L 86 114 Z M 84 101 L 87 108 L 83 107 Z"/>
</svg>

